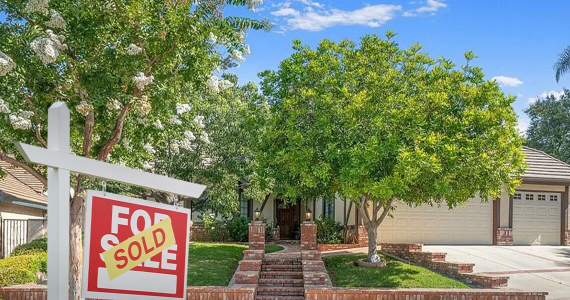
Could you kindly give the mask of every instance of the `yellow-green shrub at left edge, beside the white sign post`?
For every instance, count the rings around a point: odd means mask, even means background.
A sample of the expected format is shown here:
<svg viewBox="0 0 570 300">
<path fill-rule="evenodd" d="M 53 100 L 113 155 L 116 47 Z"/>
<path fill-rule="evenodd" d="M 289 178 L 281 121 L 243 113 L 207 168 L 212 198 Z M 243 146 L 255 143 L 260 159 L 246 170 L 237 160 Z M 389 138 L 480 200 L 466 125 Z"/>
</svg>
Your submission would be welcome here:
<svg viewBox="0 0 570 300">
<path fill-rule="evenodd" d="M 47 253 L 23 254 L 0 260 L 0 287 L 35 282 L 47 266 Z"/>
</svg>

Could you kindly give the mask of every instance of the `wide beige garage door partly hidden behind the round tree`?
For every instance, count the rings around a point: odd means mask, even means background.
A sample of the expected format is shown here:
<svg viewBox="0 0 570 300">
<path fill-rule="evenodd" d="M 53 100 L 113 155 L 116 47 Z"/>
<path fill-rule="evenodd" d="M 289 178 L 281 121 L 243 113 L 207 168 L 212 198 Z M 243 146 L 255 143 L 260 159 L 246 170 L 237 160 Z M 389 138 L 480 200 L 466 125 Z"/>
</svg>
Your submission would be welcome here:
<svg viewBox="0 0 570 300">
<path fill-rule="evenodd" d="M 399 204 L 394 218 L 386 217 L 378 228 L 382 242 L 422 242 L 426 245 L 491 245 L 492 203 L 479 197 L 466 206 L 422 205 L 410 208 Z"/>
</svg>

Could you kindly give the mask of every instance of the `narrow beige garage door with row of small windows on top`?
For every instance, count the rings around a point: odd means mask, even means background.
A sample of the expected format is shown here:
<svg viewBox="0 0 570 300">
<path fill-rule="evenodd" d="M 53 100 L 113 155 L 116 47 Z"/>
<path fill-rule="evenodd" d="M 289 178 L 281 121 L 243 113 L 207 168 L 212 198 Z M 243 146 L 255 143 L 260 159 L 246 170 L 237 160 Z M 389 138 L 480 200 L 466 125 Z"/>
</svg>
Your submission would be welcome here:
<svg viewBox="0 0 570 300">
<path fill-rule="evenodd" d="M 512 198 L 515 245 L 560 245 L 560 193 L 517 192 Z"/>
</svg>

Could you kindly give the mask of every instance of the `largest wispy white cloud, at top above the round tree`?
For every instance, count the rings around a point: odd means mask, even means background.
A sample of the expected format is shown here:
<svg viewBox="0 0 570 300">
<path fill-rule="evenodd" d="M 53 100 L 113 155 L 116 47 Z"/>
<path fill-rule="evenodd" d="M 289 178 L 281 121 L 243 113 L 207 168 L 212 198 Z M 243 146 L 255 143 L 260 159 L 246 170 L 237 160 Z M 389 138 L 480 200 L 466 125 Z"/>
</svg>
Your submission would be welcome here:
<svg viewBox="0 0 570 300">
<path fill-rule="evenodd" d="M 400 11 L 400 5 L 370 5 L 361 9 L 347 11 L 339 9 L 318 10 L 306 7 L 305 11 L 282 6 L 272 11 L 272 15 L 284 17 L 288 30 L 320 31 L 328 27 L 340 25 L 361 25 L 379 27 L 394 18 L 394 13 Z"/>
</svg>

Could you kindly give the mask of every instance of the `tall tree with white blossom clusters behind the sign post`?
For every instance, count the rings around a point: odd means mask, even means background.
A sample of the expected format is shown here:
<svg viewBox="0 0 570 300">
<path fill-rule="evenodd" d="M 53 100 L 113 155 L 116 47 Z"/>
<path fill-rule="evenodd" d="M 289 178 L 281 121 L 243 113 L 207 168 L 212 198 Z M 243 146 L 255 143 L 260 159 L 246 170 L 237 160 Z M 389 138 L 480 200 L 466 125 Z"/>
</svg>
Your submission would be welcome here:
<svg viewBox="0 0 570 300">
<path fill-rule="evenodd" d="M 245 60 L 247 30 L 270 28 L 224 8 L 261 2 L 0 2 L 0 159 L 46 184 L 45 170 L 24 163 L 13 141 L 46 147 L 47 109 L 56 101 L 71 110 L 77 155 L 152 171 L 166 142 L 208 144 L 207 116 L 193 105 L 233 85 L 214 74 Z M 70 299 L 78 299 L 84 190 L 94 182 L 75 176 L 71 184 Z"/>
</svg>

